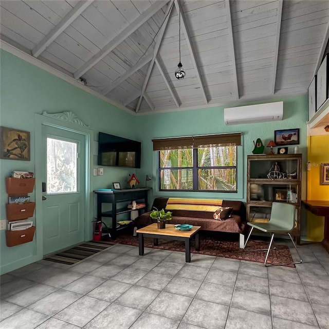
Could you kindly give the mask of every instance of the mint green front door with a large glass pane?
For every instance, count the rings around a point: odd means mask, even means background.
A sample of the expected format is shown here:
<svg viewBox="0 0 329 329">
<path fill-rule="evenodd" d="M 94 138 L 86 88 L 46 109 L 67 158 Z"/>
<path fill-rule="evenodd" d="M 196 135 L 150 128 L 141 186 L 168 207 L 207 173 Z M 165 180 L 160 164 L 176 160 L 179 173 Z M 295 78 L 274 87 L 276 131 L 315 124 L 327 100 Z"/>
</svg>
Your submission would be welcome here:
<svg viewBox="0 0 329 329">
<path fill-rule="evenodd" d="M 42 126 L 43 253 L 84 241 L 84 135 Z"/>
</svg>

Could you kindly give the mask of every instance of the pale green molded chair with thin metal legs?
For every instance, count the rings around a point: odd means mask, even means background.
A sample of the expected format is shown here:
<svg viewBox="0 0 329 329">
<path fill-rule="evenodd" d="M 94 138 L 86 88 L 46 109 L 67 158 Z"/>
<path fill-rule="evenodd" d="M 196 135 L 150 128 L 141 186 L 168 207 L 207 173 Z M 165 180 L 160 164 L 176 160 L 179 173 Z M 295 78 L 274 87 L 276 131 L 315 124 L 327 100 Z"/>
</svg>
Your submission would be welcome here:
<svg viewBox="0 0 329 329">
<path fill-rule="evenodd" d="M 252 230 L 254 228 L 257 228 L 260 231 L 269 233 L 271 235 L 271 240 L 270 243 L 268 245 L 268 249 L 257 249 L 257 250 L 248 250 L 248 251 L 259 251 L 259 250 L 267 250 L 266 253 L 266 258 L 265 258 L 265 262 L 264 265 L 265 266 L 276 266 L 276 265 L 288 265 L 288 264 L 300 264 L 302 263 L 302 259 L 300 257 L 300 254 L 297 250 L 297 247 L 295 245 L 295 242 L 293 240 L 293 238 L 290 235 L 290 232 L 294 229 L 294 225 L 295 225 L 295 212 L 296 212 L 296 207 L 294 205 L 291 204 L 284 204 L 284 203 L 279 203 L 279 202 L 273 202 L 272 203 L 272 209 L 271 209 L 271 218 L 269 220 L 268 223 L 247 223 L 249 226 L 251 226 L 251 230 L 249 232 L 249 235 L 247 237 L 247 241 L 243 247 L 243 249 L 245 249 L 249 237 L 252 233 Z M 294 262 L 294 263 L 285 263 L 285 264 L 267 264 L 267 257 L 268 257 L 268 253 L 271 249 L 271 245 L 273 242 L 273 238 L 275 234 L 285 234 L 287 233 L 290 237 L 291 242 L 293 242 L 294 247 L 297 251 L 297 254 L 300 258 L 299 262 Z M 275 248 L 273 248 L 275 249 Z"/>
</svg>

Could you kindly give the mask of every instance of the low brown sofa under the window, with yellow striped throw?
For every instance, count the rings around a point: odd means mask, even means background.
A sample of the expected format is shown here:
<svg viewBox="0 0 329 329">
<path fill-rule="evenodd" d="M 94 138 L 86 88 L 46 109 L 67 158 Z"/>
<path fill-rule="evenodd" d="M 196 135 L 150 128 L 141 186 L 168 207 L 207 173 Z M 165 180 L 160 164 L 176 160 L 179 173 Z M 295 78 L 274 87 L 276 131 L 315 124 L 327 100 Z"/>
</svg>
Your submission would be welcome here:
<svg viewBox="0 0 329 329">
<path fill-rule="evenodd" d="M 166 210 L 168 198 L 157 197 L 154 199 L 152 209 L 156 208 Z M 195 210 L 169 210 L 172 212 L 172 220 L 170 224 L 191 224 L 194 226 L 201 226 L 202 230 L 215 232 L 230 232 L 239 233 L 239 245 L 243 248 L 244 234 L 247 226 L 246 222 L 246 208 L 241 201 L 223 200 L 222 207 L 233 208 L 232 215 L 225 221 L 218 221 L 213 218 L 213 212 L 195 211 Z M 219 207 L 218 207 L 219 208 Z M 138 228 L 156 223 L 150 217 L 150 211 L 143 213 L 135 218 L 135 226 Z"/>
</svg>

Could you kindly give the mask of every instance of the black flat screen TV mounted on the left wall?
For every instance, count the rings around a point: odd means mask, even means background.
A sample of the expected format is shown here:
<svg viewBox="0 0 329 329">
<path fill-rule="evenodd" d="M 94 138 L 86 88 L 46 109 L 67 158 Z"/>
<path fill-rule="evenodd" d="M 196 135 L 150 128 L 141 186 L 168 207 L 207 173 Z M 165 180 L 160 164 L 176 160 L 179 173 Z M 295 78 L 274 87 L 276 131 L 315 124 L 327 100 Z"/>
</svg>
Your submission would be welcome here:
<svg viewBox="0 0 329 329">
<path fill-rule="evenodd" d="M 105 133 L 98 134 L 98 165 L 140 168 L 141 142 Z"/>
</svg>

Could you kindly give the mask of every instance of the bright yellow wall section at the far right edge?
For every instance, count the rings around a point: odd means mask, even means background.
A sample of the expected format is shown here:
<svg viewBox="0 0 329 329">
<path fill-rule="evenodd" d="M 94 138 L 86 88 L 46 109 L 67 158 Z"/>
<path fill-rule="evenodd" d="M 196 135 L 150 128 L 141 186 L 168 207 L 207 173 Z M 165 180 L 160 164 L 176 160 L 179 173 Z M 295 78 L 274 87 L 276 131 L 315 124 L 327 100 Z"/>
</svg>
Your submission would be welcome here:
<svg viewBox="0 0 329 329">
<path fill-rule="evenodd" d="M 307 200 L 329 201 L 329 185 L 320 185 L 320 163 L 329 162 L 329 134 L 307 137 Z M 322 241 L 324 217 L 307 212 L 307 240 Z"/>
</svg>

